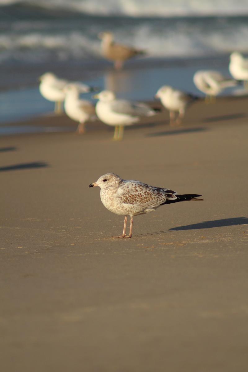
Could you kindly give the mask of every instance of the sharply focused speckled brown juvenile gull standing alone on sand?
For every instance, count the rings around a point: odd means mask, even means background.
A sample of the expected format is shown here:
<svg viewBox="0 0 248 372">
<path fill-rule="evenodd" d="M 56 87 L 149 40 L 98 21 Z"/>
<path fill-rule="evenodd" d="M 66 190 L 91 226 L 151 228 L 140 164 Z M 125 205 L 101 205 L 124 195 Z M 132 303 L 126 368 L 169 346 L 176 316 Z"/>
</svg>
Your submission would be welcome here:
<svg viewBox="0 0 248 372">
<path fill-rule="evenodd" d="M 197 199 L 198 194 L 178 195 L 177 192 L 147 185 L 134 180 L 123 180 L 115 173 L 106 173 L 89 187 L 99 186 L 103 205 L 115 214 L 124 215 L 122 235 L 113 238 L 131 238 L 133 216 L 155 211 L 160 205 Z M 130 231 L 126 235 L 127 215 L 130 216 Z"/>
</svg>

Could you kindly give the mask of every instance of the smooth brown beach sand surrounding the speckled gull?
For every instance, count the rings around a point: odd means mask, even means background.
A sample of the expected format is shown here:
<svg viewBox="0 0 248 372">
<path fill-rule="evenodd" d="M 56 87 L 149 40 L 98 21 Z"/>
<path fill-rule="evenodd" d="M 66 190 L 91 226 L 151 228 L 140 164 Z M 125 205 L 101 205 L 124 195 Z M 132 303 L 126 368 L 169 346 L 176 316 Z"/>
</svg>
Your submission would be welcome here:
<svg viewBox="0 0 248 372">
<path fill-rule="evenodd" d="M 122 142 L 103 124 L 0 138 L 1 371 L 247 371 L 247 102 L 199 102 L 184 127 L 159 115 Z M 123 217 L 88 188 L 109 171 L 206 201 L 113 240 Z"/>
</svg>

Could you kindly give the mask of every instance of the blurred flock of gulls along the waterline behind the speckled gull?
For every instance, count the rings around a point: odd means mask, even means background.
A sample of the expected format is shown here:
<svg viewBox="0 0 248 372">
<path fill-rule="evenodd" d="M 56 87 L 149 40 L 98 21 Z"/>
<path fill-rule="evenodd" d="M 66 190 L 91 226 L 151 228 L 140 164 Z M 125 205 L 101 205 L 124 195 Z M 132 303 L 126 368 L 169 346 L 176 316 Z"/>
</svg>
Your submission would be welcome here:
<svg viewBox="0 0 248 372">
<path fill-rule="evenodd" d="M 114 67 L 120 69 L 126 60 L 136 55 L 145 54 L 144 50 L 117 44 L 111 32 L 99 34 L 102 39 L 102 55 L 113 61 Z M 205 94 L 205 102 L 213 102 L 215 97 L 228 87 L 233 87 L 248 81 L 248 59 L 241 53 L 233 52 L 230 56 L 229 71 L 233 78 L 226 77 L 219 71 L 197 71 L 193 81 L 197 89 Z M 93 97 L 98 99 L 96 107 L 80 98 L 80 94 L 97 91 L 80 82 L 60 79 L 53 73 L 45 73 L 40 78 L 39 90 L 42 96 L 55 103 L 55 113 L 61 113 L 64 103 L 65 113 L 72 120 L 78 122 L 77 132 L 85 132 L 85 124 L 97 116 L 104 124 L 114 126 L 113 140 L 122 140 L 125 126 L 138 122 L 144 116 L 153 116 L 156 110 L 145 103 L 130 102 L 117 99 L 114 92 L 103 90 Z M 170 113 L 170 125 L 180 125 L 187 107 L 199 97 L 164 85 L 158 89 L 155 97 Z"/>
</svg>

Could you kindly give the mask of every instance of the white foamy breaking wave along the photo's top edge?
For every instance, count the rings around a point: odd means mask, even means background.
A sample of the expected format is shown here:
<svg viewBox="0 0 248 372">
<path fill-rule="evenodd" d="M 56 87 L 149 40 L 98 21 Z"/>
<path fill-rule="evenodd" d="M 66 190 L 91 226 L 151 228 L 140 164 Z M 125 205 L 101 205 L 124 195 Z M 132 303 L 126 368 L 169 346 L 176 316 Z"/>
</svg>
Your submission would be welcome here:
<svg viewBox="0 0 248 372">
<path fill-rule="evenodd" d="M 247 0 L 1 0 L 0 6 L 24 4 L 101 16 L 189 17 L 248 13 Z"/>
</svg>

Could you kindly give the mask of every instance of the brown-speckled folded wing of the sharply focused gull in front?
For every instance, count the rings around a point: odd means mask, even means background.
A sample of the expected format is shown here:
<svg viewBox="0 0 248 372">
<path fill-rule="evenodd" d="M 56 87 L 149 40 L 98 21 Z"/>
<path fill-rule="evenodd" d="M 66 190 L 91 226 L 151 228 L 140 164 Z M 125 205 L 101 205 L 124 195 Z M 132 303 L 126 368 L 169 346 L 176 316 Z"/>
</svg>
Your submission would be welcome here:
<svg viewBox="0 0 248 372">
<path fill-rule="evenodd" d="M 119 189 L 118 197 L 125 204 L 137 205 L 142 208 L 156 208 L 166 200 L 177 199 L 173 190 L 153 187 L 144 183 L 128 182 Z"/>
</svg>

